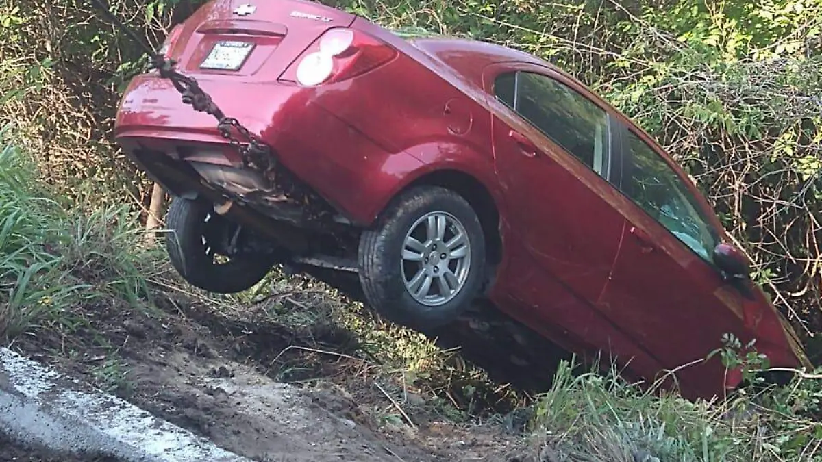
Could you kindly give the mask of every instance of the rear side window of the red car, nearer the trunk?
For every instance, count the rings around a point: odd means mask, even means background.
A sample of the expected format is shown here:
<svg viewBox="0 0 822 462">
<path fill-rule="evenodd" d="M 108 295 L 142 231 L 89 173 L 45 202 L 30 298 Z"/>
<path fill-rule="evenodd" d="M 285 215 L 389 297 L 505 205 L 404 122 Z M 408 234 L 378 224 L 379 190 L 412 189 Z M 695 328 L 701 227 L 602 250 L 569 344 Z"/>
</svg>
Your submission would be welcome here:
<svg viewBox="0 0 822 462">
<path fill-rule="evenodd" d="M 506 104 L 514 101 L 509 106 L 557 145 L 606 176 L 609 134 L 603 109 L 570 87 L 533 72 L 498 76 L 494 90 Z"/>
</svg>

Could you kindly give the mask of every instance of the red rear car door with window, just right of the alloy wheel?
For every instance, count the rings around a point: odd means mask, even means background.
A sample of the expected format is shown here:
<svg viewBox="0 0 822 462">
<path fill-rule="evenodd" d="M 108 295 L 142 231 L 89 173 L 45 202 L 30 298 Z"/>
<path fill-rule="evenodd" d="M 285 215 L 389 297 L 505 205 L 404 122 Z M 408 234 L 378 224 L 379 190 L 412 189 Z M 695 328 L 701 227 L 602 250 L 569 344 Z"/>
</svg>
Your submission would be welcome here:
<svg viewBox="0 0 822 462">
<path fill-rule="evenodd" d="M 655 367 L 596 307 L 625 224 L 610 204 L 619 193 L 609 182 L 620 176 L 611 115 L 547 67 L 501 63 L 483 79 L 496 96 L 496 172 L 516 238 L 497 284 L 530 310 L 521 318 L 561 326 L 586 349 L 617 349 Z"/>
</svg>

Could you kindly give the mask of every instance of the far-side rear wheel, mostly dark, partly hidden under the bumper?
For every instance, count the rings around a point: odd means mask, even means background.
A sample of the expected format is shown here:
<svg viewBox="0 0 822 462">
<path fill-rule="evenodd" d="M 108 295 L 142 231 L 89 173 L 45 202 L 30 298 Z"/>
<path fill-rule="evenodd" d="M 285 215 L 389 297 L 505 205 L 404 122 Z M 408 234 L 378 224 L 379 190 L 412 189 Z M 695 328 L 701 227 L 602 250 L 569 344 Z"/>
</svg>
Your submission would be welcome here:
<svg viewBox="0 0 822 462">
<path fill-rule="evenodd" d="M 166 250 L 175 270 L 197 288 L 215 293 L 251 289 L 271 269 L 266 256 L 237 252 L 238 224 L 199 202 L 176 197 L 166 215 Z M 233 248 L 232 248 L 233 247 Z"/>
</svg>

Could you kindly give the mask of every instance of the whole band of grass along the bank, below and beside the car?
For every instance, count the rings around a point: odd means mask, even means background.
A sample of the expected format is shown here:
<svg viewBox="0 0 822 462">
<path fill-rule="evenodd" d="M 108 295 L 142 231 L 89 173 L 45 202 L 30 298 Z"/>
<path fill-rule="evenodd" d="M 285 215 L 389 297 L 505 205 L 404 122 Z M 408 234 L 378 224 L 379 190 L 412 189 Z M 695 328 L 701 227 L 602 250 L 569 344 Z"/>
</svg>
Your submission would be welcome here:
<svg viewBox="0 0 822 462">
<path fill-rule="evenodd" d="M 53 198 L 38 181 L 36 165 L 21 150 L 3 146 L 0 338 L 93 329 L 90 312 L 99 303 L 150 310 L 159 283 L 206 300 L 219 316 L 245 317 L 251 320 L 248 326 L 266 320 L 305 332 L 312 339 L 307 346 L 289 354 L 270 352 L 272 377 L 310 383 L 317 380 L 317 363 L 352 360 L 357 366 L 342 368 L 343 377 L 335 381 L 343 386 L 357 382 L 367 389 L 363 394 L 385 395 L 388 400 L 379 405 L 360 401 L 372 406 L 383 423 L 412 426 L 410 421 L 419 423 L 427 413 L 470 426 L 478 418 L 472 405 L 457 404 L 453 395 L 469 396 L 478 384 L 496 386 L 483 371 L 455 365 L 455 352 L 381 321 L 312 280 L 288 280 L 272 272 L 256 293 L 228 297 L 206 297 L 174 285 L 162 274 L 164 258 L 143 244 L 139 229 L 127 206 L 89 210 Z M 103 338 L 96 341 L 105 344 Z M 95 367 L 93 377 L 109 390 L 127 387 L 124 367 L 113 353 Z M 822 460 L 822 423 L 812 417 L 819 415 L 822 400 L 818 381 L 797 377 L 789 386 L 757 394 L 742 390 L 729 400 L 706 403 L 640 390 L 613 370 L 580 376 L 572 369 L 562 365 L 552 390 L 523 412 L 491 416 L 506 427 L 517 427 L 512 420 L 524 423 L 526 452 L 537 460 Z M 509 399 L 521 402 L 515 391 Z"/>
</svg>

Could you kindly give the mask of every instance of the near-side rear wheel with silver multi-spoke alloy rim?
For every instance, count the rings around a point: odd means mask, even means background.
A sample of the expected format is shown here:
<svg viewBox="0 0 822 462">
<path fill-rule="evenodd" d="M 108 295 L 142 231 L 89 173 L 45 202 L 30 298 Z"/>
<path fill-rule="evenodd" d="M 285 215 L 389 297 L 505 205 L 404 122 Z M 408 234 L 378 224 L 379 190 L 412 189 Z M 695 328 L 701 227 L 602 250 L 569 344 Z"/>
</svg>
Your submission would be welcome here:
<svg viewBox="0 0 822 462">
<path fill-rule="evenodd" d="M 434 217 L 434 228 L 427 226 L 429 217 Z M 443 223 L 445 234 L 436 235 Z M 432 231 L 435 235 L 429 236 Z M 461 247 L 453 240 L 457 233 L 464 234 Z M 389 321 L 416 330 L 455 321 L 478 295 L 485 273 L 485 236 L 478 216 L 464 197 L 444 187 L 415 187 L 391 201 L 376 225 L 363 231 L 358 253 L 367 302 Z M 435 285 L 439 298 L 430 295 Z"/>
</svg>

